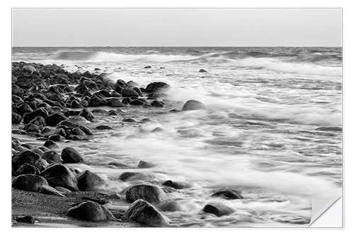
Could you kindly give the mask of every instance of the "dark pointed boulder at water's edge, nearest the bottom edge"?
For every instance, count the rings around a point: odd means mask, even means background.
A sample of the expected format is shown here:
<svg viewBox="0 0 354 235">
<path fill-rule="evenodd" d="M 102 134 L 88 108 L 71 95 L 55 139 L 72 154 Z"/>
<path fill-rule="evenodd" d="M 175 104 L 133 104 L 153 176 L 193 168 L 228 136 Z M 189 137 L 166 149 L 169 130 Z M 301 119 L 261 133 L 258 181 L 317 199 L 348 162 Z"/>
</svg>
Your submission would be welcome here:
<svg viewBox="0 0 354 235">
<path fill-rule="evenodd" d="M 136 200 L 124 216 L 132 221 L 147 225 L 167 225 L 169 221 L 156 208 L 144 200 Z"/>
</svg>

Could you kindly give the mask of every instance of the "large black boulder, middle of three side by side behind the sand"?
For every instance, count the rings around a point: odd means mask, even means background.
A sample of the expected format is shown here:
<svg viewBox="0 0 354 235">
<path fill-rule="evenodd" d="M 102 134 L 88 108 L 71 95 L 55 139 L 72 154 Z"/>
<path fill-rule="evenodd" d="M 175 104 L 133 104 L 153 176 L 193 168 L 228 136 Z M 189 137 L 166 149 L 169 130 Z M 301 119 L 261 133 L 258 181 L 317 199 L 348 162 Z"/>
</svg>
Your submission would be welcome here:
<svg viewBox="0 0 354 235">
<path fill-rule="evenodd" d="M 52 187 L 64 187 L 71 191 L 79 191 L 74 173 L 64 164 L 55 164 L 40 174 Z"/>
</svg>

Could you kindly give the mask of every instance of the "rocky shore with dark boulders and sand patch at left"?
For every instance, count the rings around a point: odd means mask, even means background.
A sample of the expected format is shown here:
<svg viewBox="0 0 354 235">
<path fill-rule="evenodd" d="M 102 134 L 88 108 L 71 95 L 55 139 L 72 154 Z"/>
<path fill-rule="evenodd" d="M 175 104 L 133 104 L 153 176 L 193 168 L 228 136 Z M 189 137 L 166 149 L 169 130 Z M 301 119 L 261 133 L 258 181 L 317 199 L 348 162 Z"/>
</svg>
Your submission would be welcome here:
<svg viewBox="0 0 354 235">
<path fill-rule="evenodd" d="M 118 116 L 119 109 L 125 107 L 164 107 L 164 91 L 169 87 L 167 83 L 154 82 L 142 88 L 134 81 L 113 82 L 105 73 L 69 73 L 55 64 L 13 62 L 13 226 L 173 226 L 163 215 L 164 211 L 178 210 L 178 203 L 169 200 L 169 193 L 190 187 L 188 183 L 137 183 L 120 192 L 99 193 L 96 189 L 105 180 L 89 170 L 70 167 L 69 164 L 86 162 L 85 157 L 74 147 L 58 145 L 95 138 L 84 123 L 96 120 L 95 113 L 104 111 L 99 107 L 111 107 L 108 116 Z M 202 102 L 189 100 L 181 110 L 171 112 L 195 109 L 206 107 Z M 125 117 L 122 121 L 135 120 Z M 99 125 L 96 129 L 105 131 L 111 127 Z M 26 143 L 25 138 L 35 143 Z M 149 167 L 154 167 L 154 163 L 140 161 L 137 165 Z M 126 171 L 119 179 L 128 181 L 138 174 Z M 227 188 L 210 197 L 243 198 L 241 192 Z M 129 203 L 126 210 L 110 208 L 120 201 Z M 220 217 L 234 211 L 226 205 L 208 204 L 201 212 Z"/>
</svg>

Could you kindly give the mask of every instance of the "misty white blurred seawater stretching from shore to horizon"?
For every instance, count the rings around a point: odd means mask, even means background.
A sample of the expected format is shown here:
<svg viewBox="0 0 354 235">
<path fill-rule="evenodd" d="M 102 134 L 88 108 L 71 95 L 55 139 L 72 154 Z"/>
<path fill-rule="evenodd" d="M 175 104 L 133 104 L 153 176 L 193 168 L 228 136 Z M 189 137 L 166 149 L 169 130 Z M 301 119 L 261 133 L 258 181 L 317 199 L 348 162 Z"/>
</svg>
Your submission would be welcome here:
<svg viewBox="0 0 354 235">
<path fill-rule="evenodd" d="M 142 86 L 153 81 L 171 85 L 164 108 L 126 108 L 115 118 L 96 115 L 98 121 L 86 126 L 104 123 L 113 130 L 67 145 L 89 159 L 75 166 L 110 183 L 103 191 L 120 191 L 139 180 L 192 183 L 169 194 L 182 208 L 164 212 L 173 225 L 306 226 L 312 198 L 341 194 L 341 48 L 17 47 L 13 61 L 63 64 L 68 71 L 107 73 Z M 200 68 L 208 73 L 198 73 Z M 207 110 L 169 113 L 192 99 Z M 122 125 L 122 116 L 152 121 Z M 112 164 L 135 166 L 141 159 L 157 166 L 120 169 Z M 122 183 L 118 176 L 124 171 L 145 176 Z M 210 198 L 220 187 L 239 189 L 245 199 Z M 224 217 L 201 215 L 210 202 L 237 210 Z"/>
</svg>

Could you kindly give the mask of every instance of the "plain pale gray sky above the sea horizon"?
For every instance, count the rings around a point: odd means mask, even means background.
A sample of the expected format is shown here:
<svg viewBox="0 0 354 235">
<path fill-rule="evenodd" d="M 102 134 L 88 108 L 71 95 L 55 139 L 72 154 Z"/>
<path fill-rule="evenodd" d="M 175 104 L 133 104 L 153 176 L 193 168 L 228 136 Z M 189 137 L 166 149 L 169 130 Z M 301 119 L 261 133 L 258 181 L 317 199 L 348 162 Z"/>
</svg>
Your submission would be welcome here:
<svg viewBox="0 0 354 235">
<path fill-rule="evenodd" d="M 341 9 L 13 9 L 13 47 L 341 47 Z"/>
</svg>

